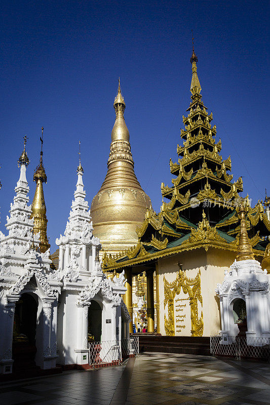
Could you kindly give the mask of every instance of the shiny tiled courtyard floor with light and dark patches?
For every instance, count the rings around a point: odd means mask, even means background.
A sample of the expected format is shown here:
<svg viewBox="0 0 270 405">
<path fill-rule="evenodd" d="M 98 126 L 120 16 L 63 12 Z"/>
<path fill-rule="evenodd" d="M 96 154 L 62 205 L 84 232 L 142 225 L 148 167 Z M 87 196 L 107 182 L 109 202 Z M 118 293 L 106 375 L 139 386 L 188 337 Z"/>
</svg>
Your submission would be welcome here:
<svg viewBox="0 0 270 405">
<path fill-rule="evenodd" d="M 124 367 L 0 384 L 0 405 L 270 404 L 266 363 L 145 353 Z"/>
</svg>

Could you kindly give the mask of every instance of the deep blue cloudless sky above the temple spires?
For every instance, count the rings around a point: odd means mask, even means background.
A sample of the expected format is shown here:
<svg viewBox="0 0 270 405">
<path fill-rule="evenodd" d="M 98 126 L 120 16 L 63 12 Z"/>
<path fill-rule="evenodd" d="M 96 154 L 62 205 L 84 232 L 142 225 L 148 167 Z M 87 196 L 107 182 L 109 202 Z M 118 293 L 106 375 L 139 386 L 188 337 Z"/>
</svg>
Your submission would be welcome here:
<svg viewBox="0 0 270 405">
<path fill-rule="evenodd" d="M 89 205 L 107 170 L 113 100 L 121 77 L 126 123 L 143 189 L 160 210 L 171 184 L 182 114 L 190 101 L 191 29 L 205 105 L 221 154 L 244 194 L 269 184 L 267 1 L 3 1 L 1 3 L 1 224 L 18 180 L 22 136 L 32 200 L 44 126 L 48 236 L 64 232 L 76 183 L 78 141 Z"/>
</svg>

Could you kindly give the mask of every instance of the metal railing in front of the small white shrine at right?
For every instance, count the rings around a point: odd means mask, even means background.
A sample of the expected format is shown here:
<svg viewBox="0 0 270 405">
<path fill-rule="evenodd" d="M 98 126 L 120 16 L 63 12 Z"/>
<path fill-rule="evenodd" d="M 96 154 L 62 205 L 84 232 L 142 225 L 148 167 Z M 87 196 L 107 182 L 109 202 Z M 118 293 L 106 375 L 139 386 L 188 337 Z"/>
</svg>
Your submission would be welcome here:
<svg viewBox="0 0 270 405">
<path fill-rule="evenodd" d="M 220 335 L 210 336 L 210 351 L 213 356 L 270 359 L 270 338 L 227 336 L 224 342 Z"/>
</svg>

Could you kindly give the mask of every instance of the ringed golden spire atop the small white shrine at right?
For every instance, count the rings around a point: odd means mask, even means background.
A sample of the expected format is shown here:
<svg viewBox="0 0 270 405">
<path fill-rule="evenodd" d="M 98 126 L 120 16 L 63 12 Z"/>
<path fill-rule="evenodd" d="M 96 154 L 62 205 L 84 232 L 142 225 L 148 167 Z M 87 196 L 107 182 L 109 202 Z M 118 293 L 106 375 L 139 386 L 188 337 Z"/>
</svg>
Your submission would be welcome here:
<svg viewBox="0 0 270 405">
<path fill-rule="evenodd" d="M 240 232 L 236 260 L 238 262 L 241 260 L 254 260 L 254 254 L 247 233 L 246 207 L 244 207 L 243 199 L 238 208 L 238 215 L 240 219 Z"/>
</svg>

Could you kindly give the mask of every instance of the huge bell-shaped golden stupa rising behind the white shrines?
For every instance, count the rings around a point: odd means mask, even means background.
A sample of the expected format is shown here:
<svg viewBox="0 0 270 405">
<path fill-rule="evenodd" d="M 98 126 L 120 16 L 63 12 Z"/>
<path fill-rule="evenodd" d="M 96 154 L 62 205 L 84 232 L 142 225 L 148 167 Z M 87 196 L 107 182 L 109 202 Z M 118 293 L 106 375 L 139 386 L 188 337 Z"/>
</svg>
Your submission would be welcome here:
<svg viewBox="0 0 270 405">
<path fill-rule="evenodd" d="M 113 107 L 116 118 L 111 131 L 108 171 L 90 209 L 95 235 L 100 238 L 103 250 L 111 254 L 137 244 L 136 228 L 151 206 L 134 173 L 120 80 Z"/>
</svg>

